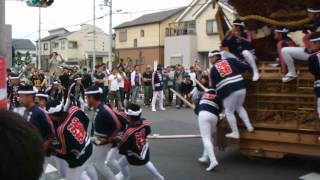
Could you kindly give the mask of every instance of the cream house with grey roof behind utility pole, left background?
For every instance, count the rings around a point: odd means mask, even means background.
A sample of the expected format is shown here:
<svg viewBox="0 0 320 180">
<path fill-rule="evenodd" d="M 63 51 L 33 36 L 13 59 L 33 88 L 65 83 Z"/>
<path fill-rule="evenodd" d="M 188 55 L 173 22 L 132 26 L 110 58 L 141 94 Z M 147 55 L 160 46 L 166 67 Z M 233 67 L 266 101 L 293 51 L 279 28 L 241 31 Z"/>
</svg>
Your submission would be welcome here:
<svg viewBox="0 0 320 180">
<path fill-rule="evenodd" d="M 92 67 L 94 26 L 83 24 L 79 31 L 70 32 L 65 28 L 49 31 L 41 39 L 41 67 L 48 69 L 50 55 L 57 52 L 66 64 Z M 96 27 L 96 64 L 107 63 L 110 36 Z M 38 46 L 37 46 L 38 47 Z"/>
</svg>

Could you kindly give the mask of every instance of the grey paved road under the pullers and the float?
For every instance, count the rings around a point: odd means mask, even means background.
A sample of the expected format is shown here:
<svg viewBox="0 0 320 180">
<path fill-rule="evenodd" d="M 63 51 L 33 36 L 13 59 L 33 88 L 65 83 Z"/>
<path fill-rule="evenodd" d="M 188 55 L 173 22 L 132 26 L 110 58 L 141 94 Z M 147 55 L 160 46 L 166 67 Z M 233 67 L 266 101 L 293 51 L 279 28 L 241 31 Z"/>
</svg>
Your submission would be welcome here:
<svg viewBox="0 0 320 180">
<path fill-rule="evenodd" d="M 144 116 L 152 121 L 153 133 L 199 133 L 196 116 L 190 109 L 146 109 Z M 216 171 L 206 172 L 206 165 L 197 162 L 202 151 L 200 139 L 150 142 L 151 160 L 167 180 L 296 180 L 310 172 L 320 172 L 320 157 L 289 155 L 274 161 L 251 160 L 236 149 L 216 151 L 220 165 Z M 143 168 L 130 170 L 133 180 L 152 179 Z"/>
</svg>

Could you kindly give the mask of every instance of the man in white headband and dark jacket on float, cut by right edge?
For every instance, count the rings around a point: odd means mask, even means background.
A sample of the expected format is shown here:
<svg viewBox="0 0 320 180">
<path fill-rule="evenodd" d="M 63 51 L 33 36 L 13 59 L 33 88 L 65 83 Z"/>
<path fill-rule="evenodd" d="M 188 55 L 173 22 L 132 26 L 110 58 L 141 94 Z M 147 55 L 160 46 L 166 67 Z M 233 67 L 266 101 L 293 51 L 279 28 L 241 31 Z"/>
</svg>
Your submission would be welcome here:
<svg viewBox="0 0 320 180">
<path fill-rule="evenodd" d="M 320 32 L 316 32 L 309 37 L 313 43 L 316 53 L 309 57 L 309 70 L 314 75 L 314 91 L 317 97 L 317 112 L 320 119 Z"/>
</svg>

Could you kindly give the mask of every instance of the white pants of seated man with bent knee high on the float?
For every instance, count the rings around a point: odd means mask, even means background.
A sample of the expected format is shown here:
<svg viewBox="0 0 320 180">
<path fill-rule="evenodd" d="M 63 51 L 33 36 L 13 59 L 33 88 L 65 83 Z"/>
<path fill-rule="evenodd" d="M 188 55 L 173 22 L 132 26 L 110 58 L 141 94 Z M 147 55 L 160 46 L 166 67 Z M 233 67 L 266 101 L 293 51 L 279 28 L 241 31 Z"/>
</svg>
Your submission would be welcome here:
<svg viewBox="0 0 320 180">
<path fill-rule="evenodd" d="M 286 76 L 296 76 L 296 68 L 294 59 L 307 61 L 310 54 L 305 52 L 304 47 L 285 47 L 281 49 L 282 56 L 288 66 L 288 73 Z"/>
</svg>

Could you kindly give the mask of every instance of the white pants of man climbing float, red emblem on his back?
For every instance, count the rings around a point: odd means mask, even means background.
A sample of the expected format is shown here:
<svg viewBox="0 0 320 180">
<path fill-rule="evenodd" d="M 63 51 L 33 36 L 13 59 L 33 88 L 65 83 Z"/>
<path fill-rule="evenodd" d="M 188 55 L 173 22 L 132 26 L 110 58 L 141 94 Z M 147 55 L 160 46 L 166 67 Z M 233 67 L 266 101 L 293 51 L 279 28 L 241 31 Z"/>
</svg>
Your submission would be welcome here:
<svg viewBox="0 0 320 180">
<path fill-rule="evenodd" d="M 246 90 L 241 89 L 233 92 L 223 100 L 223 106 L 225 109 L 226 117 L 233 133 L 239 134 L 235 112 L 238 113 L 238 115 L 240 116 L 241 120 L 243 121 L 247 129 L 252 128 L 248 113 L 243 107 L 245 98 L 246 98 Z"/>
</svg>

